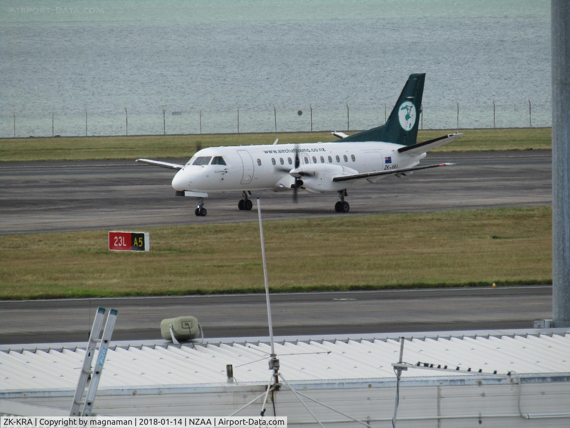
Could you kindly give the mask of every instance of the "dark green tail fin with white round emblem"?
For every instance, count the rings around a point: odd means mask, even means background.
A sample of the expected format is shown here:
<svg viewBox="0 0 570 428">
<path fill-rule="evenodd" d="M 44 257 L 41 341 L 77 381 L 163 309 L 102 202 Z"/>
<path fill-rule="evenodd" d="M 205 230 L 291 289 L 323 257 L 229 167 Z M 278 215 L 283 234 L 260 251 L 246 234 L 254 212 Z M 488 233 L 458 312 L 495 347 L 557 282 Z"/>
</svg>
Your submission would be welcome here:
<svg viewBox="0 0 570 428">
<path fill-rule="evenodd" d="M 410 74 L 385 124 L 349 135 L 342 142 L 378 141 L 404 146 L 416 144 L 425 76 L 425 73 Z"/>
</svg>

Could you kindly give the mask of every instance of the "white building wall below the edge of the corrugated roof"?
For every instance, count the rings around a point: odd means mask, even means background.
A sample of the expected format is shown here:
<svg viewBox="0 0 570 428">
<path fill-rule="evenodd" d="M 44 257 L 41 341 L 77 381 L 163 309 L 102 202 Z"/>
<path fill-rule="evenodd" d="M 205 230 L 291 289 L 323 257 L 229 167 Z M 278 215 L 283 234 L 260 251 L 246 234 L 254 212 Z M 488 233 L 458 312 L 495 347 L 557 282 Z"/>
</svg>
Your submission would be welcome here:
<svg viewBox="0 0 570 428">
<path fill-rule="evenodd" d="M 521 408 L 524 414 L 570 413 L 570 386 L 568 382 L 523 383 Z M 94 411 L 99 414 L 117 416 L 185 415 L 224 416 L 230 415 L 248 401 L 263 393 L 264 387 L 235 386 L 212 391 L 196 391 L 180 394 L 150 394 L 144 390 L 125 395 L 109 395 L 100 391 L 95 400 Z M 392 426 L 394 411 L 394 387 L 303 389 L 306 394 L 337 410 L 361 420 L 370 420 L 374 427 Z M 116 393 L 117 391 L 115 391 Z M 126 392 L 126 391 L 125 391 Z M 318 427 L 314 419 L 286 389 L 274 394 L 275 410 L 278 416 L 287 416 L 289 426 Z M 335 413 L 317 403 L 304 399 L 317 418 L 327 426 L 356 427 L 343 415 Z M 35 405 L 62 407 L 70 406 L 71 397 L 14 398 L 12 401 Z M 242 410 L 238 415 L 257 416 L 262 400 Z M 273 415 L 271 400 L 266 406 L 266 415 Z M 478 418 L 445 419 L 449 416 L 482 414 Z M 444 417 L 436 419 L 437 416 Z M 510 417 L 487 417 L 487 415 L 510 415 Z M 408 418 L 431 418 L 418 421 Z M 376 419 L 383 419 L 378 421 Z M 328 422 L 327 422 L 328 421 Z M 338 422 L 332 422 L 338 421 Z M 398 428 L 400 427 L 548 427 L 570 426 L 570 417 L 561 419 L 523 419 L 518 411 L 518 385 L 459 385 L 459 386 L 406 386 L 402 382 L 400 405 L 398 407 Z"/>
</svg>

